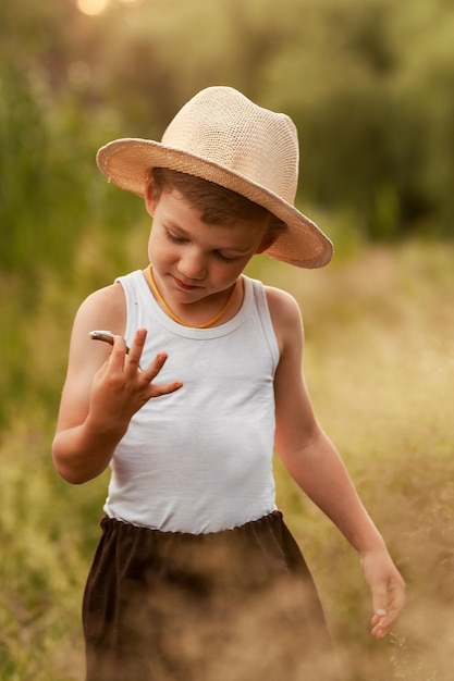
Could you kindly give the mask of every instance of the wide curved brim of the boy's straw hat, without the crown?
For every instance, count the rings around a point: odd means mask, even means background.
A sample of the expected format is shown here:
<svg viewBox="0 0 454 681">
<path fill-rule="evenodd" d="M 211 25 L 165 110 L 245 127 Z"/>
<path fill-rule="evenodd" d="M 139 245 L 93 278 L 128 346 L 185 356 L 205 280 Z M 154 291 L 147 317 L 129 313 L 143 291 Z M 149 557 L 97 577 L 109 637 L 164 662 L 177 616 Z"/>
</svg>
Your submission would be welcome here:
<svg viewBox="0 0 454 681">
<path fill-rule="evenodd" d="M 262 206 L 286 224 L 287 228 L 265 251 L 269 256 L 308 269 L 322 268 L 331 260 L 333 245 L 315 222 L 277 194 L 218 163 L 139 138 L 111 141 L 98 150 L 96 160 L 109 182 L 138 196 L 145 195 L 152 168 L 167 168 L 213 182 Z"/>
</svg>

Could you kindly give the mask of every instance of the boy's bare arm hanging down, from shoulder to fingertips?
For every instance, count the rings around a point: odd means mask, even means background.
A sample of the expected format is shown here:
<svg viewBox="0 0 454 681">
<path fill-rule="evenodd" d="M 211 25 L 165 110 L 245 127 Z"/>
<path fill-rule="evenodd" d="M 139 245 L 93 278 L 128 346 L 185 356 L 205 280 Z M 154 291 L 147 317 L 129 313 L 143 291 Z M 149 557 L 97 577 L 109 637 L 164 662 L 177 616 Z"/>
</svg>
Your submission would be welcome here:
<svg viewBox="0 0 454 681">
<path fill-rule="evenodd" d="M 303 326 L 297 305 L 275 289 L 268 292 L 268 300 L 281 350 L 274 381 L 278 454 L 302 490 L 359 553 L 372 592 L 372 633 L 383 637 L 402 612 L 404 582 L 338 450 L 314 414 L 302 373 Z"/>
</svg>

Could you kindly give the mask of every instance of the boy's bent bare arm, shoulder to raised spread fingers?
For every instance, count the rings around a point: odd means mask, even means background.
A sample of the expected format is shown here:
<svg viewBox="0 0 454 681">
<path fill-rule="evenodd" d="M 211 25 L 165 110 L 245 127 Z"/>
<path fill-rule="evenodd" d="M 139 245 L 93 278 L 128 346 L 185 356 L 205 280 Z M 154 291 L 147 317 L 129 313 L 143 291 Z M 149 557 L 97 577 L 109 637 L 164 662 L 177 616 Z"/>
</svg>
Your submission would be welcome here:
<svg viewBox="0 0 454 681">
<path fill-rule="evenodd" d="M 138 371 L 147 332 L 137 331 L 126 355 L 124 326 L 125 301 L 119 284 L 93 294 L 76 314 L 52 446 L 56 470 L 68 482 L 78 484 L 102 473 L 133 414 L 151 397 L 182 385 L 154 383 L 165 352 Z M 112 331 L 113 347 L 94 343 L 88 335 L 94 329 Z"/>
</svg>

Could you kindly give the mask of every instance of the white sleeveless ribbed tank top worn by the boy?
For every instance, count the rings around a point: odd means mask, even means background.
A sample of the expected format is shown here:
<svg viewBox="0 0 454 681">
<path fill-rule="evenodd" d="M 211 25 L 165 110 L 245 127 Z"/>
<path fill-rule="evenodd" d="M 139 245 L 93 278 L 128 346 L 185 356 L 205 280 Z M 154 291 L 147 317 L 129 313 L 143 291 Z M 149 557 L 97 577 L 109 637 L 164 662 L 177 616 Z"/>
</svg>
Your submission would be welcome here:
<svg viewBox="0 0 454 681">
<path fill-rule="evenodd" d="M 274 510 L 279 349 L 263 285 L 243 276 L 244 301 L 233 319 L 188 329 L 163 312 L 142 271 L 116 281 L 126 298 L 126 343 L 146 327 L 142 366 L 165 350 L 157 382 L 184 385 L 134 414 L 111 461 L 106 513 L 134 525 L 200 534 Z"/>
</svg>

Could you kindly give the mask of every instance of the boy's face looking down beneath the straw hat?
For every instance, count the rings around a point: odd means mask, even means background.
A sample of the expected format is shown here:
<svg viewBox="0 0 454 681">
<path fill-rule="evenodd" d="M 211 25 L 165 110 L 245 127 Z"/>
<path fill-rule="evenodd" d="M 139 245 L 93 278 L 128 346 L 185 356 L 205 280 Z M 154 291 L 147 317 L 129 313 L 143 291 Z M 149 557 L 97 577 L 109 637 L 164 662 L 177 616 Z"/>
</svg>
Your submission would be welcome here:
<svg viewBox="0 0 454 681">
<path fill-rule="evenodd" d="M 154 201 L 148 255 L 155 278 L 168 305 L 196 302 L 226 290 L 250 258 L 270 245 L 266 224 L 207 224 L 176 189 Z"/>
</svg>

